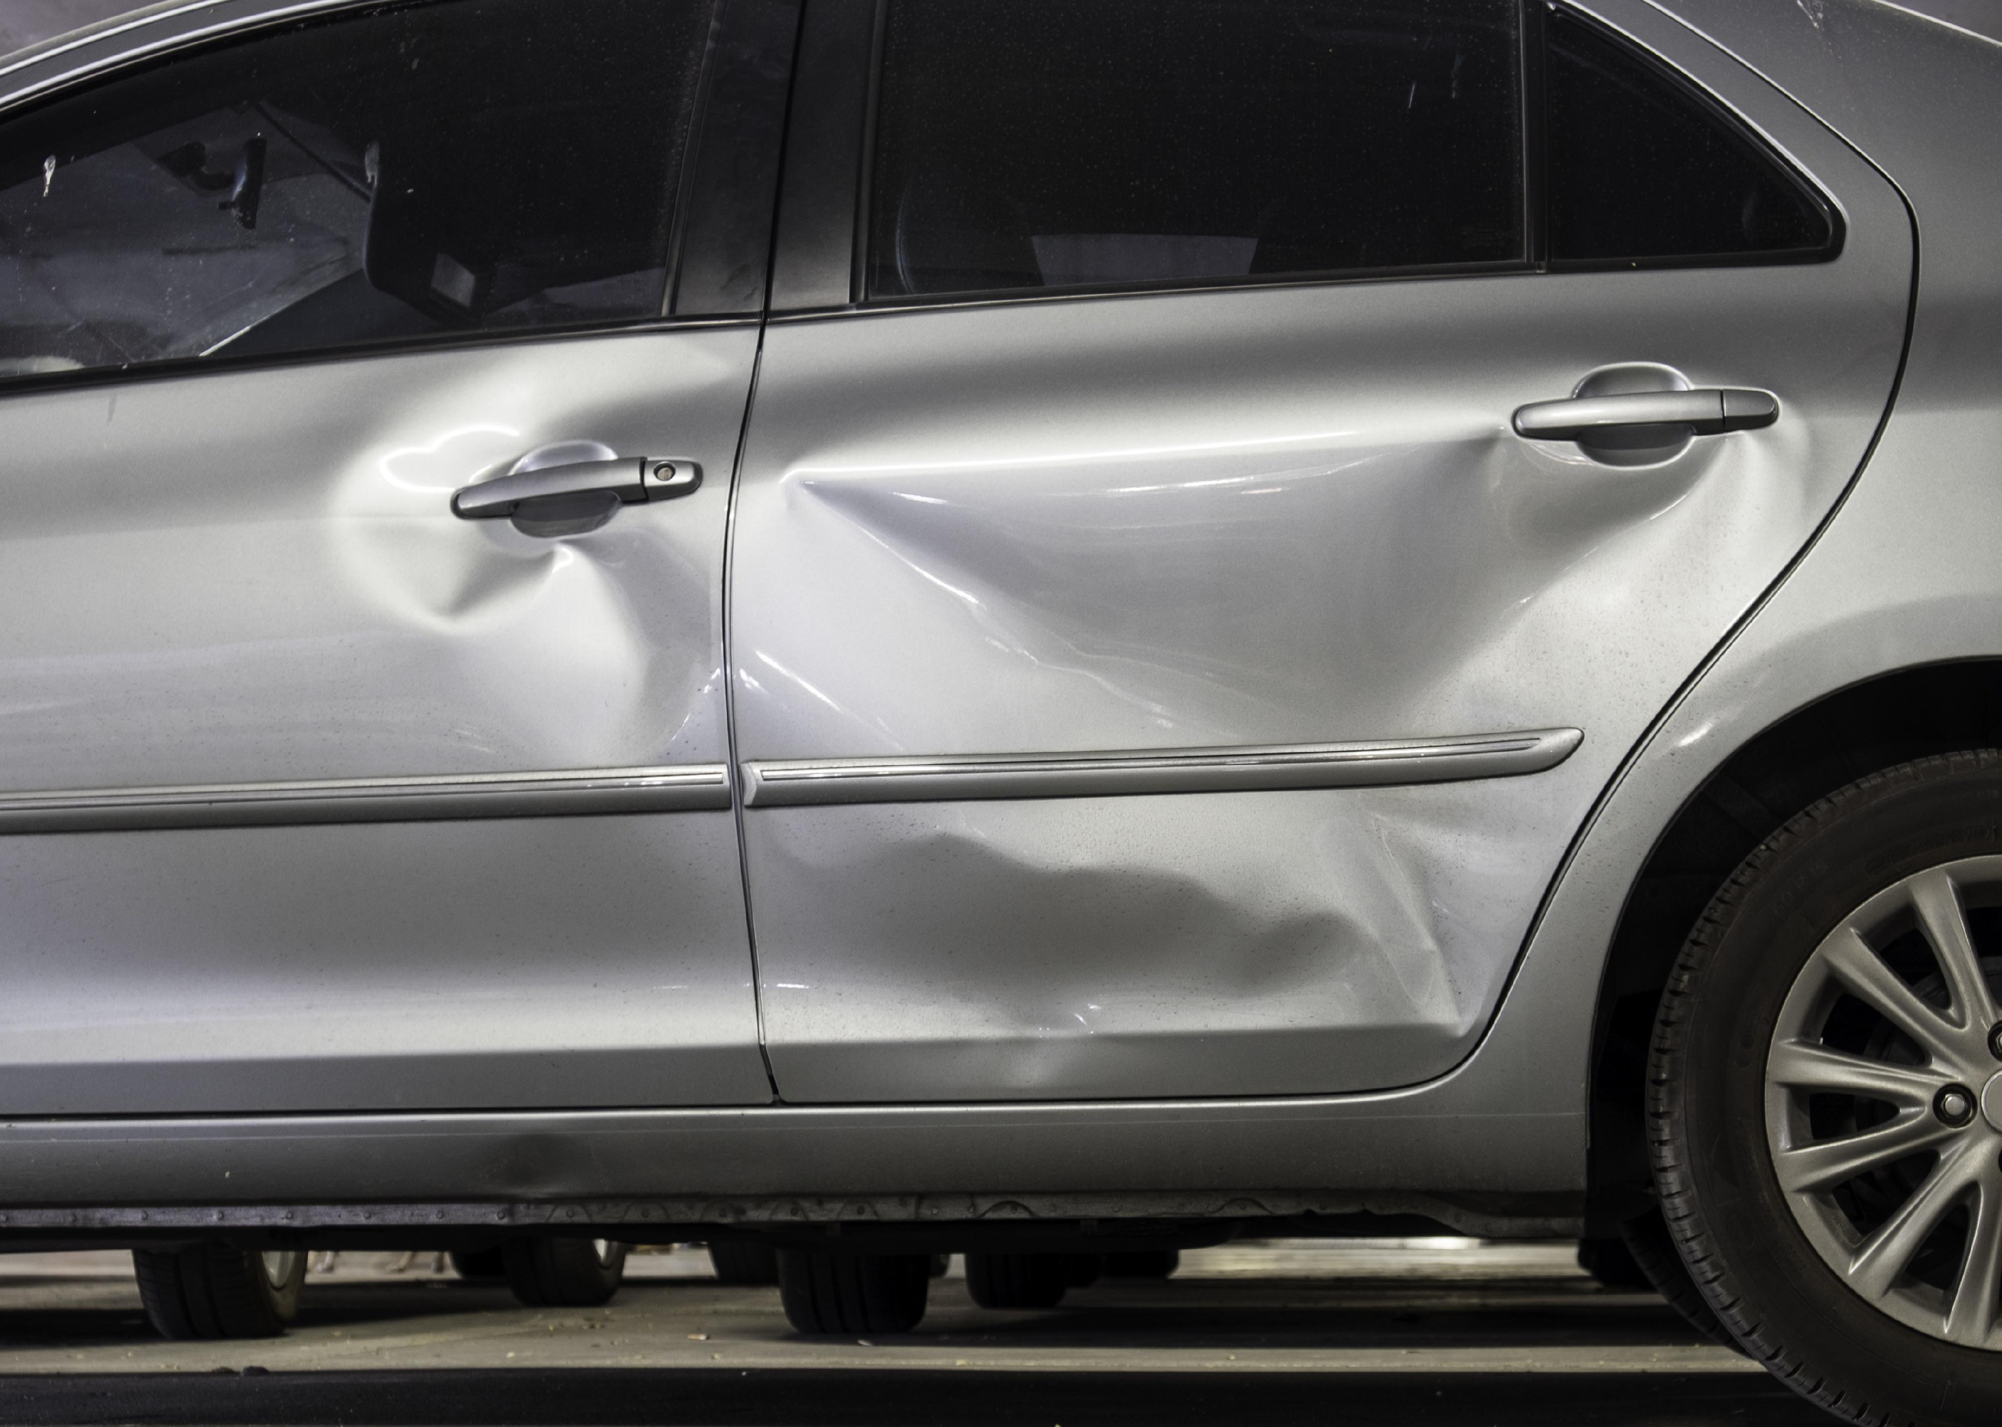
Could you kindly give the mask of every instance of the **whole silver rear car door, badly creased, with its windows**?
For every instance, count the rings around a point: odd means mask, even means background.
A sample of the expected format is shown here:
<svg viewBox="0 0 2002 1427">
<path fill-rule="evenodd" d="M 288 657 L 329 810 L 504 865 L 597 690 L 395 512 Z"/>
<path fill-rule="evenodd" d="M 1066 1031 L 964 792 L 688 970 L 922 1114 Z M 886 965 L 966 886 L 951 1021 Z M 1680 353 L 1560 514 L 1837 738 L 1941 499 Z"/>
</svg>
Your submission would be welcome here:
<svg viewBox="0 0 2002 1427">
<path fill-rule="evenodd" d="M 781 1095 L 1445 1073 L 1856 476 L 1896 192 L 1622 0 L 867 10 L 735 518 Z"/>
</svg>

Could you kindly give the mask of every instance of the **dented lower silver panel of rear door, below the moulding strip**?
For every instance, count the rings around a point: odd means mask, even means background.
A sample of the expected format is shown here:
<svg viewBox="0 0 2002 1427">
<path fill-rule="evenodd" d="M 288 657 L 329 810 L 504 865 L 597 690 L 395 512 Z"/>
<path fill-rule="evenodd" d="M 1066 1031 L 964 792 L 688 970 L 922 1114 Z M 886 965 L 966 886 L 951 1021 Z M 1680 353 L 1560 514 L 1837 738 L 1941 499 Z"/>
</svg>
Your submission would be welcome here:
<svg viewBox="0 0 2002 1427">
<path fill-rule="evenodd" d="M 803 1103 L 1421 1079 L 1477 1033 L 1564 815 L 1514 785 L 761 809 L 773 1073 Z"/>
</svg>

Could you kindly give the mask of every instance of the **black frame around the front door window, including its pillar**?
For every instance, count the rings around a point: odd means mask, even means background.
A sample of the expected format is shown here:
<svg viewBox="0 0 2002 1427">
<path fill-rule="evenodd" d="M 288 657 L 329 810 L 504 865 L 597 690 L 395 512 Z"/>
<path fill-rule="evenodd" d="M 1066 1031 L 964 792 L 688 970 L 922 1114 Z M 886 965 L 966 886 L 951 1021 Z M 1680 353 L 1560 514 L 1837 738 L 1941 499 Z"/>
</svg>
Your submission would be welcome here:
<svg viewBox="0 0 2002 1427">
<path fill-rule="evenodd" d="M 116 42 L 116 36 L 128 36 L 134 30 L 144 36 L 144 26 L 134 24 L 130 18 L 92 26 L 78 36 L 64 36 L 38 46 L 38 50 L 26 56 L 26 62 L 32 64 L 36 58 L 54 58 L 74 50 L 86 54 L 80 64 L 66 66 L 52 80 L 30 80 L 30 84 L 0 98 L 0 126 L 44 104 L 56 104 L 98 86 L 118 84 L 126 76 L 164 68 L 218 46 L 254 40 L 260 34 L 314 24 L 338 24 L 358 14 L 426 8 L 446 2 L 306 0 L 304 4 L 266 4 L 250 14 L 232 16 L 222 24 L 208 24 L 164 40 L 156 38 L 140 44 Z M 468 328 L 362 338 L 294 352 L 230 354 L 224 350 L 214 356 L 172 356 L 118 366 L 20 372 L 0 376 L 0 398 L 24 392 L 312 366 L 412 352 L 454 352 L 498 344 L 569 342 L 633 332 L 759 324 L 765 320 L 771 296 L 767 278 L 773 204 L 777 202 L 781 164 L 779 134 L 787 112 L 801 6 L 803 0 L 713 2 L 705 52 L 699 62 L 695 94 L 691 96 L 687 138 L 679 170 L 671 184 L 675 212 L 659 312 L 525 328 Z M 172 20 L 174 16 L 162 18 Z M 104 48 L 104 52 L 92 56 L 88 54 L 92 48 Z M 4 74 L 6 70 L 0 70 L 0 78 Z M 717 122 L 719 118 L 723 122 Z M 739 258 L 735 266 L 745 266 L 743 258 L 749 258 L 749 266 L 755 268 L 753 294 L 731 304 L 733 310 L 705 310 L 719 296 L 715 292 L 705 296 L 687 292 L 683 280 L 691 268 L 691 234 L 695 234 L 695 242 L 709 244 L 701 256 L 711 268 L 733 266 L 729 260 L 733 256 Z M 743 252 L 747 242 L 755 244 L 755 250 L 749 254 Z M 759 262 L 759 256 L 765 262 Z M 685 296 L 689 298 L 687 302 Z M 693 310 L 687 310 L 689 306 Z"/>
</svg>

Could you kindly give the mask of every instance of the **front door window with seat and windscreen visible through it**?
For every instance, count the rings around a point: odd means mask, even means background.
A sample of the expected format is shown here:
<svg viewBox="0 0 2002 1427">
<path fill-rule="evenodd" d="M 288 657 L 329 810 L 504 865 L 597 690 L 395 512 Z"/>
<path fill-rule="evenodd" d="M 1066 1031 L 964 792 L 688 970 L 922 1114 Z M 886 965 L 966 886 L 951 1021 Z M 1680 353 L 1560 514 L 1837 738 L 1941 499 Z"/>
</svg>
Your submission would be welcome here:
<svg viewBox="0 0 2002 1427">
<path fill-rule="evenodd" d="M 0 130 L 0 374 L 657 316 L 709 0 L 448 0 Z"/>
</svg>

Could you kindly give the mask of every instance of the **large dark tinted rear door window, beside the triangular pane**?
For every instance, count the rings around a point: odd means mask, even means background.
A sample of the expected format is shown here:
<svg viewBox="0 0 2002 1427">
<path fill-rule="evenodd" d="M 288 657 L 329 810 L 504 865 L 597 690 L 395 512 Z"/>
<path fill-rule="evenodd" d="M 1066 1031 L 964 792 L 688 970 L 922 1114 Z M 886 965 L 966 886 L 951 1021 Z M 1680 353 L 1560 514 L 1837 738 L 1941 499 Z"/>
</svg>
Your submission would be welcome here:
<svg viewBox="0 0 2002 1427">
<path fill-rule="evenodd" d="M 1524 256 L 1516 0 L 891 0 L 869 294 Z"/>
</svg>

